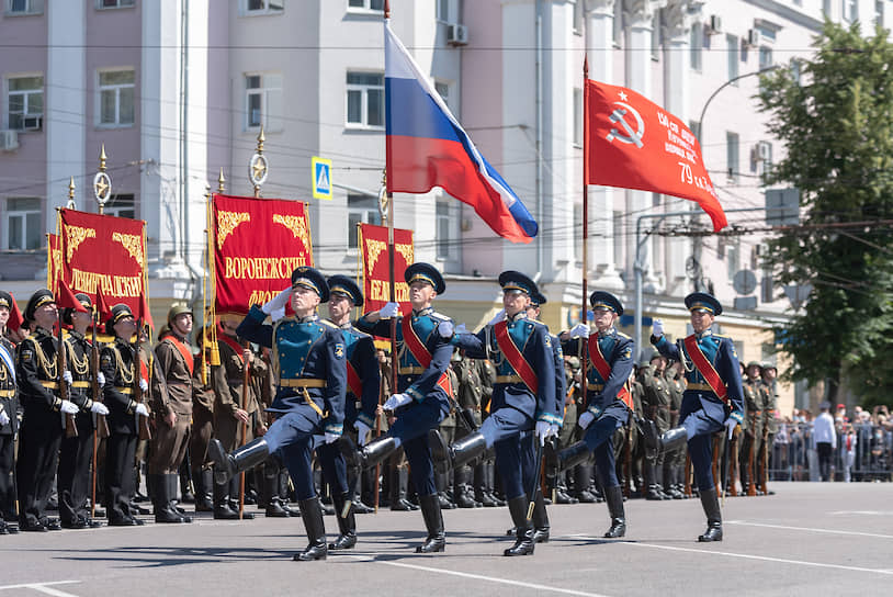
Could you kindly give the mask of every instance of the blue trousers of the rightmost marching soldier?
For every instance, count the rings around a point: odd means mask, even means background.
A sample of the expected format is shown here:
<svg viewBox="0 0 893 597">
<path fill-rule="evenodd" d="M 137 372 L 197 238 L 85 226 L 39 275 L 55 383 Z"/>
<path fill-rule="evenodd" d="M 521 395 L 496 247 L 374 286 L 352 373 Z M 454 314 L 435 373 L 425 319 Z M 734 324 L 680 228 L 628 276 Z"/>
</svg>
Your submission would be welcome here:
<svg viewBox="0 0 893 597">
<path fill-rule="evenodd" d="M 686 392 L 679 410 L 679 421 L 688 432 L 688 452 L 694 468 L 698 488 L 712 489 L 713 483 L 713 433 L 723 429 L 725 406 L 701 396 L 700 392 Z"/>
</svg>

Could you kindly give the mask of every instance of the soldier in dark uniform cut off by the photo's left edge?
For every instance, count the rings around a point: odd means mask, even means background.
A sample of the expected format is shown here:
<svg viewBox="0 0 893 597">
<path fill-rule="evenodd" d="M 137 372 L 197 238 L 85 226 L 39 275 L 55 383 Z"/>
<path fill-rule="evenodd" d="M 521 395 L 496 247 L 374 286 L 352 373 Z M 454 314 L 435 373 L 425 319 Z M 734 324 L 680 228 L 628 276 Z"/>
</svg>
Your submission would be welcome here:
<svg viewBox="0 0 893 597">
<path fill-rule="evenodd" d="M 12 309 L 12 295 L 0 291 L 0 534 L 19 532 L 10 526 L 15 514 L 15 433 L 19 431 L 19 399 L 15 390 L 15 347 L 7 339 L 7 322 Z"/>
</svg>

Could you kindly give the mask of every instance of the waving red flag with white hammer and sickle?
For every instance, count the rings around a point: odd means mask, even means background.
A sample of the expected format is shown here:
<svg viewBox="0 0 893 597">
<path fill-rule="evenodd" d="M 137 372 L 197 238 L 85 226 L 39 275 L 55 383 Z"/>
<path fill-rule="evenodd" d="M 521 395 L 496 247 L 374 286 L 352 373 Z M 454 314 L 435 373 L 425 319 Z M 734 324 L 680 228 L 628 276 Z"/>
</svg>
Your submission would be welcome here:
<svg viewBox="0 0 893 597">
<path fill-rule="evenodd" d="M 701 146 L 688 126 L 624 87 L 587 80 L 584 93 L 587 184 L 688 199 L 710 215 L 714 232 L 726 226 Z"/>
</svg>

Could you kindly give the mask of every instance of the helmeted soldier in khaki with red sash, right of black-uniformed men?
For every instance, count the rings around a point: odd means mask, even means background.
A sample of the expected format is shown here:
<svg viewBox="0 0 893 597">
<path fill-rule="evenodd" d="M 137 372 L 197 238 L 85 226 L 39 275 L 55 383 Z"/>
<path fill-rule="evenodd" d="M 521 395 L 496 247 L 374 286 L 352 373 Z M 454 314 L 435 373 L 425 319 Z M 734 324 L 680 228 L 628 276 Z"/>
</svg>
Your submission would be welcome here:
<svg viewBox="0 0 893 597">
<path fill-rule="evenodd" d="M 156 431 L 149 457 L 149 492 L 156 522 L 191 522 L 176 506 L 180 464 L 185 457 L 192 418 L 193 368 L 195 364 L 189 335 L 192 312 L 174 304 L 168 312 L 168 329 L 159 334 L 155 348 L 167 395 L 152 392 Z M 166 399 L 167 398 L 167 399 Z"/>
</svg>

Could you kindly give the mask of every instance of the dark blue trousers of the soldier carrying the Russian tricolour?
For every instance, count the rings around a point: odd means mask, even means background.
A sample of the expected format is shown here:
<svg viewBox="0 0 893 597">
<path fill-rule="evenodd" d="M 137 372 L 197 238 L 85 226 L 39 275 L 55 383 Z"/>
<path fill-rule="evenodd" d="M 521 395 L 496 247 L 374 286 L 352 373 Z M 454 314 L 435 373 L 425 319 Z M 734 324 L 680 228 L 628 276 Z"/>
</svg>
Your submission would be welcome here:
<svg viewBox="0 0 893 597">
<path fill-rule="evenodd" d="M 431 463 L 431 447 L 428 446 L 428 431 L 437 429 L 446 414 L 440 401 L 426 398 L 420 403 L 405 406 L 397 412 L 397 420 L 387 433 L 398 438 L 409 461 L 412 485 L 420 496 L 438 493 L 434 484 L 434 468 Z"/>
</svg>

